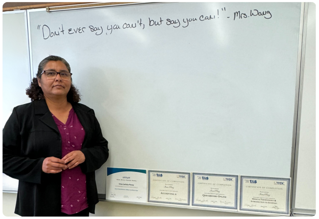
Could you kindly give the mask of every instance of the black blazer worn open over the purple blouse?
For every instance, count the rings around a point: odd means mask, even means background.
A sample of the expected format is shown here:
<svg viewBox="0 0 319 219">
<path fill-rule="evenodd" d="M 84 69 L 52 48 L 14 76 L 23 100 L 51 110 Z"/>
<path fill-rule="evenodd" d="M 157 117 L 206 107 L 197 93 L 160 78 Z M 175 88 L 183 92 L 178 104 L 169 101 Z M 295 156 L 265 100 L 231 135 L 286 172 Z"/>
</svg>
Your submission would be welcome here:
<svg viewBox="0 0 319 219">
<path fill-rule="evenodd" d="M 80 167 L 86 174 L 87 200 L 94 214 L 99 202 L 94 171 L 108 159 L 108 141 L 92 109 L 79 103 L 72 106 L 85 130 L 81 150 L 85 162 Z M 43 173 L 42 163 L 47 157 L 61 156 L 61 135 L 45 100 L 15 107 L 2 130 L 2 173 L 19 180 L 17 215 L 60 216 L 61 173 Z"/>
</svg>

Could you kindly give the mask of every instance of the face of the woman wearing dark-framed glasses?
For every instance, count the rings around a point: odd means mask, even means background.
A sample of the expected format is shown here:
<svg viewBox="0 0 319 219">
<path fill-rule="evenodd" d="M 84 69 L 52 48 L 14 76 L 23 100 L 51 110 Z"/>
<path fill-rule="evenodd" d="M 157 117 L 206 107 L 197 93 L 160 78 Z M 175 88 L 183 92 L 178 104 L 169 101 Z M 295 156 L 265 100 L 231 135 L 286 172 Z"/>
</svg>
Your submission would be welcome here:
<svg viewBox="0 0 319 219">
<path fill-rule="evenodd" d="M 68 68 L 61 61 L 49 61 L 43 71 L 69 72 Z M 60 74 L 56 75 L 55 79 L 47 79 L 43 73 L 41 79 L 38 78 L 39 86 L 41 87 L 44 96 L 51 98 L 66 98 L 71 88 L 71 80 L 65 81 L 61 79 Z"/>
</svg>

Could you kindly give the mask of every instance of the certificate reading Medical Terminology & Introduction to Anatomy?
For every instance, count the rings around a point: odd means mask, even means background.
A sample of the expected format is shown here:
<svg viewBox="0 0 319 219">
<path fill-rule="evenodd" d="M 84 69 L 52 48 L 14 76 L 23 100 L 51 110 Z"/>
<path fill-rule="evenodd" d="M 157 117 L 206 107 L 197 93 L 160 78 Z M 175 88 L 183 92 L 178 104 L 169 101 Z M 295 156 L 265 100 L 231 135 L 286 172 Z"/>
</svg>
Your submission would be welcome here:
<svg viewBox="0 0 319 219">
<path fill-rule="evenodd" d="M 240 211 L 289 215 L 290 178 L 241 176 Z"/>
</svg>

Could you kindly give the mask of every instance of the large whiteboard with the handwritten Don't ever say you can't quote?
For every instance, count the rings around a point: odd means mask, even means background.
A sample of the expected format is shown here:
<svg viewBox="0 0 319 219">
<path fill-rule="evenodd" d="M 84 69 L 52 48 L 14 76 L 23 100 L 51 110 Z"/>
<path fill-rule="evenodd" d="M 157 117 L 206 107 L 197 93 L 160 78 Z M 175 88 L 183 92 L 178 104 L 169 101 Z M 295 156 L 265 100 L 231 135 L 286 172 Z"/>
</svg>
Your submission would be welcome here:
<svg viewBox="0 0 319 219">
<path fill-rule="evenodd" d="M 255 9 L 265 15 L 250 16 Z M 106 167 L 290 177 L 300 9 L 179 2 L 30 11 L 33 73 L 48 55 L 70 63 L 81 103 L 109 141 L 99 193 Z"/>
</svg>

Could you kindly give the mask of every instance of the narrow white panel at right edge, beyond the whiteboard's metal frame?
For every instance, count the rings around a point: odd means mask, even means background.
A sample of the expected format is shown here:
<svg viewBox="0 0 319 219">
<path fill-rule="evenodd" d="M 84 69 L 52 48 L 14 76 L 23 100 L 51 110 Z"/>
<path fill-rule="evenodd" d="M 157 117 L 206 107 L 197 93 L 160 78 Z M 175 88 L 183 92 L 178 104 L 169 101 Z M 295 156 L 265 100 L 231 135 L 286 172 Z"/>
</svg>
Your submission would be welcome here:
<svg viewBox="0 0 319 219">
<path fill-rule="evenodd" d="M 309 2 L 295 208 L 317 208 L 316 197 L 316 4 Z"/>
</svg>

